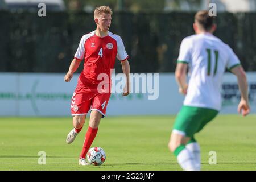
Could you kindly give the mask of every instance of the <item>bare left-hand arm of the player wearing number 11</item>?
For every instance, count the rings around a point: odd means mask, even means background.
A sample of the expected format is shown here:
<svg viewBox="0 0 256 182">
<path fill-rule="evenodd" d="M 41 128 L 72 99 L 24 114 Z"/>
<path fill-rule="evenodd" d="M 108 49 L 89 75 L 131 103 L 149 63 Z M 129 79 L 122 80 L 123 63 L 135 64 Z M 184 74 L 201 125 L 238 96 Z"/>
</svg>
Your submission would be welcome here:
<svg viewBox="0 0 256 182">
<path fill-rule="evenodd" d="M 182 94 L 187 94 L 188 84 L 187 84 L 187 68 L 186 63 L 177 63 L 175 70 L 175 78 L 177 84 L 179 85 L 179 92 Z"/>
</svg>

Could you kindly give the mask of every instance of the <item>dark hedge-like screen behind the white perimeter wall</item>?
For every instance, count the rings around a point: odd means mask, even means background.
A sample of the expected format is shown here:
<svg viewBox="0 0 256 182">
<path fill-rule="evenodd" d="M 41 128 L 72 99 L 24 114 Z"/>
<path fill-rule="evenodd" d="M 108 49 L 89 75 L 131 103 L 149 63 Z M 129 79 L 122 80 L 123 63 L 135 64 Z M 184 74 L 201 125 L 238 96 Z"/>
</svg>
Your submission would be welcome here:
<svg viewBox="0 0 256 182">
<path fill-rule="evenodd" d="M 181 40 L 194 34 L 195 13 L 115 12 L 110 31 L 122 37 L 131 72 L 174 72 Z M 0 11 L 0 72 L 67 72 L 82 35 L 95 30 L 93 13 Z M 256 71 L 256 14 L 221 13 L 214 35 Z M 81 71 L 82 67 L 80 67 Z M 116 61 L 116 72 L 122 72 Z"/>
</svg>

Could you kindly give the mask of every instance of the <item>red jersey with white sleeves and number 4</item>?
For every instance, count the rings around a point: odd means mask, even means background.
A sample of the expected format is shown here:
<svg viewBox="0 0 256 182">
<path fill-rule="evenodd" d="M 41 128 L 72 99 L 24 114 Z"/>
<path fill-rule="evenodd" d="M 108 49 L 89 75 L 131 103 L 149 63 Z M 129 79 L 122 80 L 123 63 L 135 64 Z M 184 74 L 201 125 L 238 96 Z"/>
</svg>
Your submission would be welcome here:
<svg viewBox="0 0 256 182">
<path fill-rule="evenodd" d="M 108 76 L 110 83 L 110 69 L 114 68 L 116 57 L 119 61 L 129 57 L 120 36 L 108 32 L 108 36 L 101 38 L 95 35 L 95 31 L 82 36 L 75 58 L 81 61 L 84 59 L 84 70 L 79 76 L 77 87 L 97 88 L 102 82 L 98 79 L 101 73 Z"/>
</svg>

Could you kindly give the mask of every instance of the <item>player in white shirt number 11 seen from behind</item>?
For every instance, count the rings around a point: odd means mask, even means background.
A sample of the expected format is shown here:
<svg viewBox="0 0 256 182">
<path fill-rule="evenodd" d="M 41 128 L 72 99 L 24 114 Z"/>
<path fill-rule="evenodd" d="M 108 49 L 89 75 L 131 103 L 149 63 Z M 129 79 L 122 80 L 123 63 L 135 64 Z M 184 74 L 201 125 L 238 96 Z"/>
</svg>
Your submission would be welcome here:
<svg viewBox="0 0 256 182">
<path fill-rule="evenodd" d="M 246 73 L 233 50 L 216 36 L 214 17 L 208 11 L 195 15 L 196 35 L 181 42 L 175 77 L 186 95 L 172 130 L 168 147 L 184 170 L 200 170 L 200 146 L 194 137 L 221 109 L 221 82 L 225 69 L 237 76 L 241 92 L 238 113 L 249 114 Z M 187 68 L 191 78 L 187 84 Z"/>
</svg>

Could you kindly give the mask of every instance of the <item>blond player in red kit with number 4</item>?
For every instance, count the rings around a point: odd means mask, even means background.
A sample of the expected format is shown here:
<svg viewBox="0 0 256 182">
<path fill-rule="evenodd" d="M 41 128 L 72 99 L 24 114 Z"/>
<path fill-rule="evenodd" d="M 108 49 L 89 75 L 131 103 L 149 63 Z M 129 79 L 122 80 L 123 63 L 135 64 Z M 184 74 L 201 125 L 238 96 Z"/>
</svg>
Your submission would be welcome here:
<svg viewBox="0 0 256 182">
<path fill-rule="evenodd" d="M 129 94 L 130 65 L 127 60 L 129 56 L 120 36 L 109 32 L 111 15 L 112 10 L 108 6 L 97 7 L 94 10 L 94 21 L 97 28 L 82 36 L 69 71 L 64 77 L 64 81 L 70 81 L 73 73 L 84 60 L 84 69 L 79 76 L 77 88 L 71 101 L 74 128 L 66 139 L 67 143 L 72 143 L 75 140 L 84 126 L 86 114 L 91 109 L 89 127 L 79 158 L 80 165 L 88 165 L 85 160 L 86 153 L 96 137 L 101 118 L 105 117 L 111 90 L 110 69 L 114 68 L 116 57 L 121 61 L 123 73 L 126 75 L 126 86 L 122 96 Z M 107 77 L 107 84 L 104 86 L 99 86 L 102 84 L 101 74 Z"/>
</svg>

